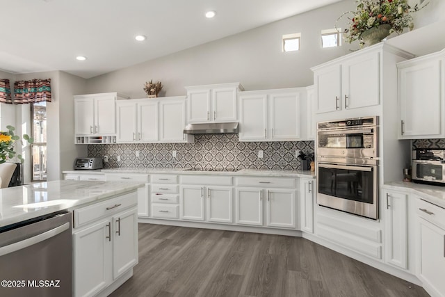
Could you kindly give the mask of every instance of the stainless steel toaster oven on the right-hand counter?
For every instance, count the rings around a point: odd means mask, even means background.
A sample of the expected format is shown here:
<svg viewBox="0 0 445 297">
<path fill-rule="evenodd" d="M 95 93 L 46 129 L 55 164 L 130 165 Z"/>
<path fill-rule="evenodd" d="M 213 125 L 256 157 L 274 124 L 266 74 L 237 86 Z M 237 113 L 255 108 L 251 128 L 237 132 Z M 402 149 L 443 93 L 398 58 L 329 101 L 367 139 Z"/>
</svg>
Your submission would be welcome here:
<svg viewBox="0 0 445 297">
<path fill-rule="evenodd" d="M 445 186 L 445 149 L 413 150 L 411 163 L 413 182 Z"/>
</svg>

